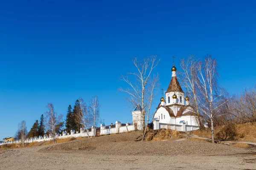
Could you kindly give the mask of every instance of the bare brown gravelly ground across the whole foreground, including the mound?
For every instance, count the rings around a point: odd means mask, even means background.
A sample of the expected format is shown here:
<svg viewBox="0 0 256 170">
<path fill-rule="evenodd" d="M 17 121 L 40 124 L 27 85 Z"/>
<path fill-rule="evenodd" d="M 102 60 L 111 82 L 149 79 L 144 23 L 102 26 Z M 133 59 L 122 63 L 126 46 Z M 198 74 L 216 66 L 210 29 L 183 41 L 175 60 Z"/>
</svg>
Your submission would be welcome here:
<svg viewBox="0 0 256 170">
<path fill-rule="evenodd" d="M 0 150 L 6 170 L 256 170 L 256 148 L 189 139 L 134 142 L 139 132 Z"/>
</svg>

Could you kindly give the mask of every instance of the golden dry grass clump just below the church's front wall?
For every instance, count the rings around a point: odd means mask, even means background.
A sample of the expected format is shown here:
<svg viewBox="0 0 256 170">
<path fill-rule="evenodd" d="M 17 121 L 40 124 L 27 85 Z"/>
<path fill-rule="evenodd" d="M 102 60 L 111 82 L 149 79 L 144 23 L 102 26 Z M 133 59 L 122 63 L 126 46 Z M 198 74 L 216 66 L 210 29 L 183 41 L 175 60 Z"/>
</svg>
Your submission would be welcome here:
<svg viewBox="0 0 256 170">
<path fill-rule="evenodd" d="M 182 138 L 183 135 L 177 130 L 171 129 L 157 129 L 157 130 L 148 130 L 145 141 L 163 141 L 173 138 Z"/>
</svg>

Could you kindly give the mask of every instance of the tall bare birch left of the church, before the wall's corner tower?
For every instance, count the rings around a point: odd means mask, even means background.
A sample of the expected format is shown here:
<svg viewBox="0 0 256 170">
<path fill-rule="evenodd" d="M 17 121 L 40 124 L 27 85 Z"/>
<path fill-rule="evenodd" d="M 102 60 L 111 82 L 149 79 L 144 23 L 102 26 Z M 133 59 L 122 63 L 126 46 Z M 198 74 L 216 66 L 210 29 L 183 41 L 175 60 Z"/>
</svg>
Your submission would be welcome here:
<svg viewBox="0 0 256 170">
<path fill-rule="evenodd" d="M 152 75 L 154 68 L 159 63 L 160 59 L 157 56 L 146 57 L 141 61 L 138 61 L 135 57 L 132 59 L 137 71 L 134 73 L 128 72 L 126 75 L 122 75 L 120 79 L 126 82 L 130 88 L 120 88 L 120 91 L 129 94 L 128 101 L 132 103 L 134 107 L 138 104 L 141 106 L 142 112 L 142 126 L 143 126 L 143 138 L 145 138 L 149 115 L 151 113 L 151 104 L 154 98 L 154 90 L 158 82 L 158 75 Z M 134 76 L 130 79 L 130 76 Z"/>
</svg>

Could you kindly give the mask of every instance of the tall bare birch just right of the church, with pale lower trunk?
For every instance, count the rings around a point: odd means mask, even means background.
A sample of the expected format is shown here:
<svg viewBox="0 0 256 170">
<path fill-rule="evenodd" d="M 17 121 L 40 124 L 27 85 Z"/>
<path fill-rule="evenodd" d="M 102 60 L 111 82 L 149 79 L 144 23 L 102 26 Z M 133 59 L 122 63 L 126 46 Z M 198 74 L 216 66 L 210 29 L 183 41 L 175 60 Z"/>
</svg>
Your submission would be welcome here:
<svg viewBox="0 0 256 170">
<path fill-rule="evenodd" d="M 198 88 L 196 100 L 200 111 L 210 119 L 212 142 L 214 143 L 214 118 L 221 116 L 221 106 L 229 99 L 225 97 L 226 91 L 217 82 L 217 62 L 211 56 L 206 56 L 203 62 L 198 62 L 198 73 L 195 84 Z"/>
</svg>

